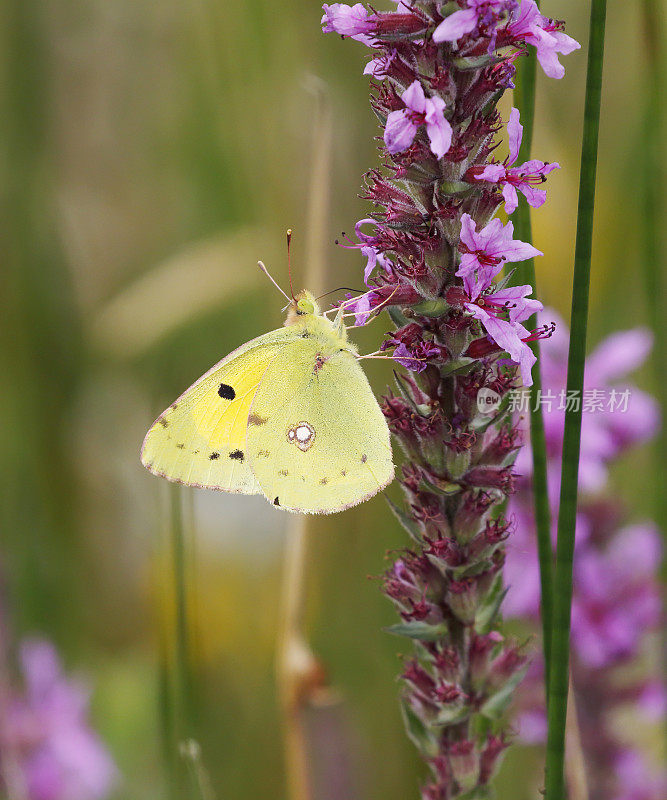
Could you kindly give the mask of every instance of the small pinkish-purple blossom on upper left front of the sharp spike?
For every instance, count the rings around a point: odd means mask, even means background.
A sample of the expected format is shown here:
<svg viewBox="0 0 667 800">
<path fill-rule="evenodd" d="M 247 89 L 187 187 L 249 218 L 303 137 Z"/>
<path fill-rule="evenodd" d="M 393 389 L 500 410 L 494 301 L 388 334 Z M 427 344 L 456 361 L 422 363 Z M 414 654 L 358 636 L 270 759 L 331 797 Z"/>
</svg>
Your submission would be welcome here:
<svg viewBox="0 0 667 800">
<path fill-rule="evenodd" d="M 401 95 L 405 108 L 392 111 L 387 117 L 384 141 L 393 155 L 406 150 L 414 142 L 421 125 L 431 142 L 431 152 L 442 158 L 452 143 L 452 128 L 445 119 L 445 101 L 441 97 L 426 97 L 419 81 L 414 81 Z"/>
</svg>

